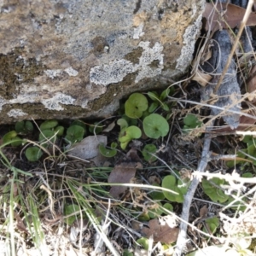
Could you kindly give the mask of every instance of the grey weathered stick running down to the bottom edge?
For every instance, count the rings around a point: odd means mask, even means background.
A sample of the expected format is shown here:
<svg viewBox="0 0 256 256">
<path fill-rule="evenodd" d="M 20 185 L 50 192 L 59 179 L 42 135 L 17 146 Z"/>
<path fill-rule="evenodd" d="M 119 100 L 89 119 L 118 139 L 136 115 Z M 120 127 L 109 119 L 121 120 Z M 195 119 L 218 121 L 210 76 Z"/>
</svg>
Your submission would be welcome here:
<svg viewBox="0 0 256 256">
<path fill-rule="evenodd" d="M 210 160 L 209 148 L 211 144 L 211 139 L 212 139 L 211 135 L 207 133 L 205 136 L 204 147 L 201 154 L 201 161 L 198 165 L 197 172 L 205 172 L 205 169 L 207 168 L 207 163 Z M 174 252 L 175 256 L 182 255 L 183 247 L 186 244 L 187 228 L 188 228 L 188 222 L 189 222 L 189 209 L 190 209 L 191 201 L 194 197 L 195 189 L 197 188 L 198 183 L 199 183 L 198 177 L 194 177 L 192 180 L 192 183 L 189 186 L 189 190 L 184 197 L 183 212 L 181 215 L 182 222 L 179 226 L 179 234 L 177 236 L 177 242 L 176 242 L 177 247 Z"/>
</svg>

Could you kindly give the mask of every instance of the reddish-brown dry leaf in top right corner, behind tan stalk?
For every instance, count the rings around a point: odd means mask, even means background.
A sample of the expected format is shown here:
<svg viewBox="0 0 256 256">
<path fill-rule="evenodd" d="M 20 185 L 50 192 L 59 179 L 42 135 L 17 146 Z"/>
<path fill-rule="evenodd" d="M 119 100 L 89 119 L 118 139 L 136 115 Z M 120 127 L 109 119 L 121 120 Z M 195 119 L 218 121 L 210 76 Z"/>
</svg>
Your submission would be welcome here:
<svg viewBox="0 0 256 256">
<path fill-rule="evenodd" d="M 234 28 L 240 25 L 245 12 L 246 9 L 231 3 L 206 3 L 203 17 L 207 20 L 204 27 L 207 31 L 209 30 L 209 26 L 211 26 L 212 31 L 217 31 L 220 28 L 229 28 L 229 26 Z M 251 13 L 248 17 L 246 26 L 255 25 L 256 14 Z"/>
</svg>

